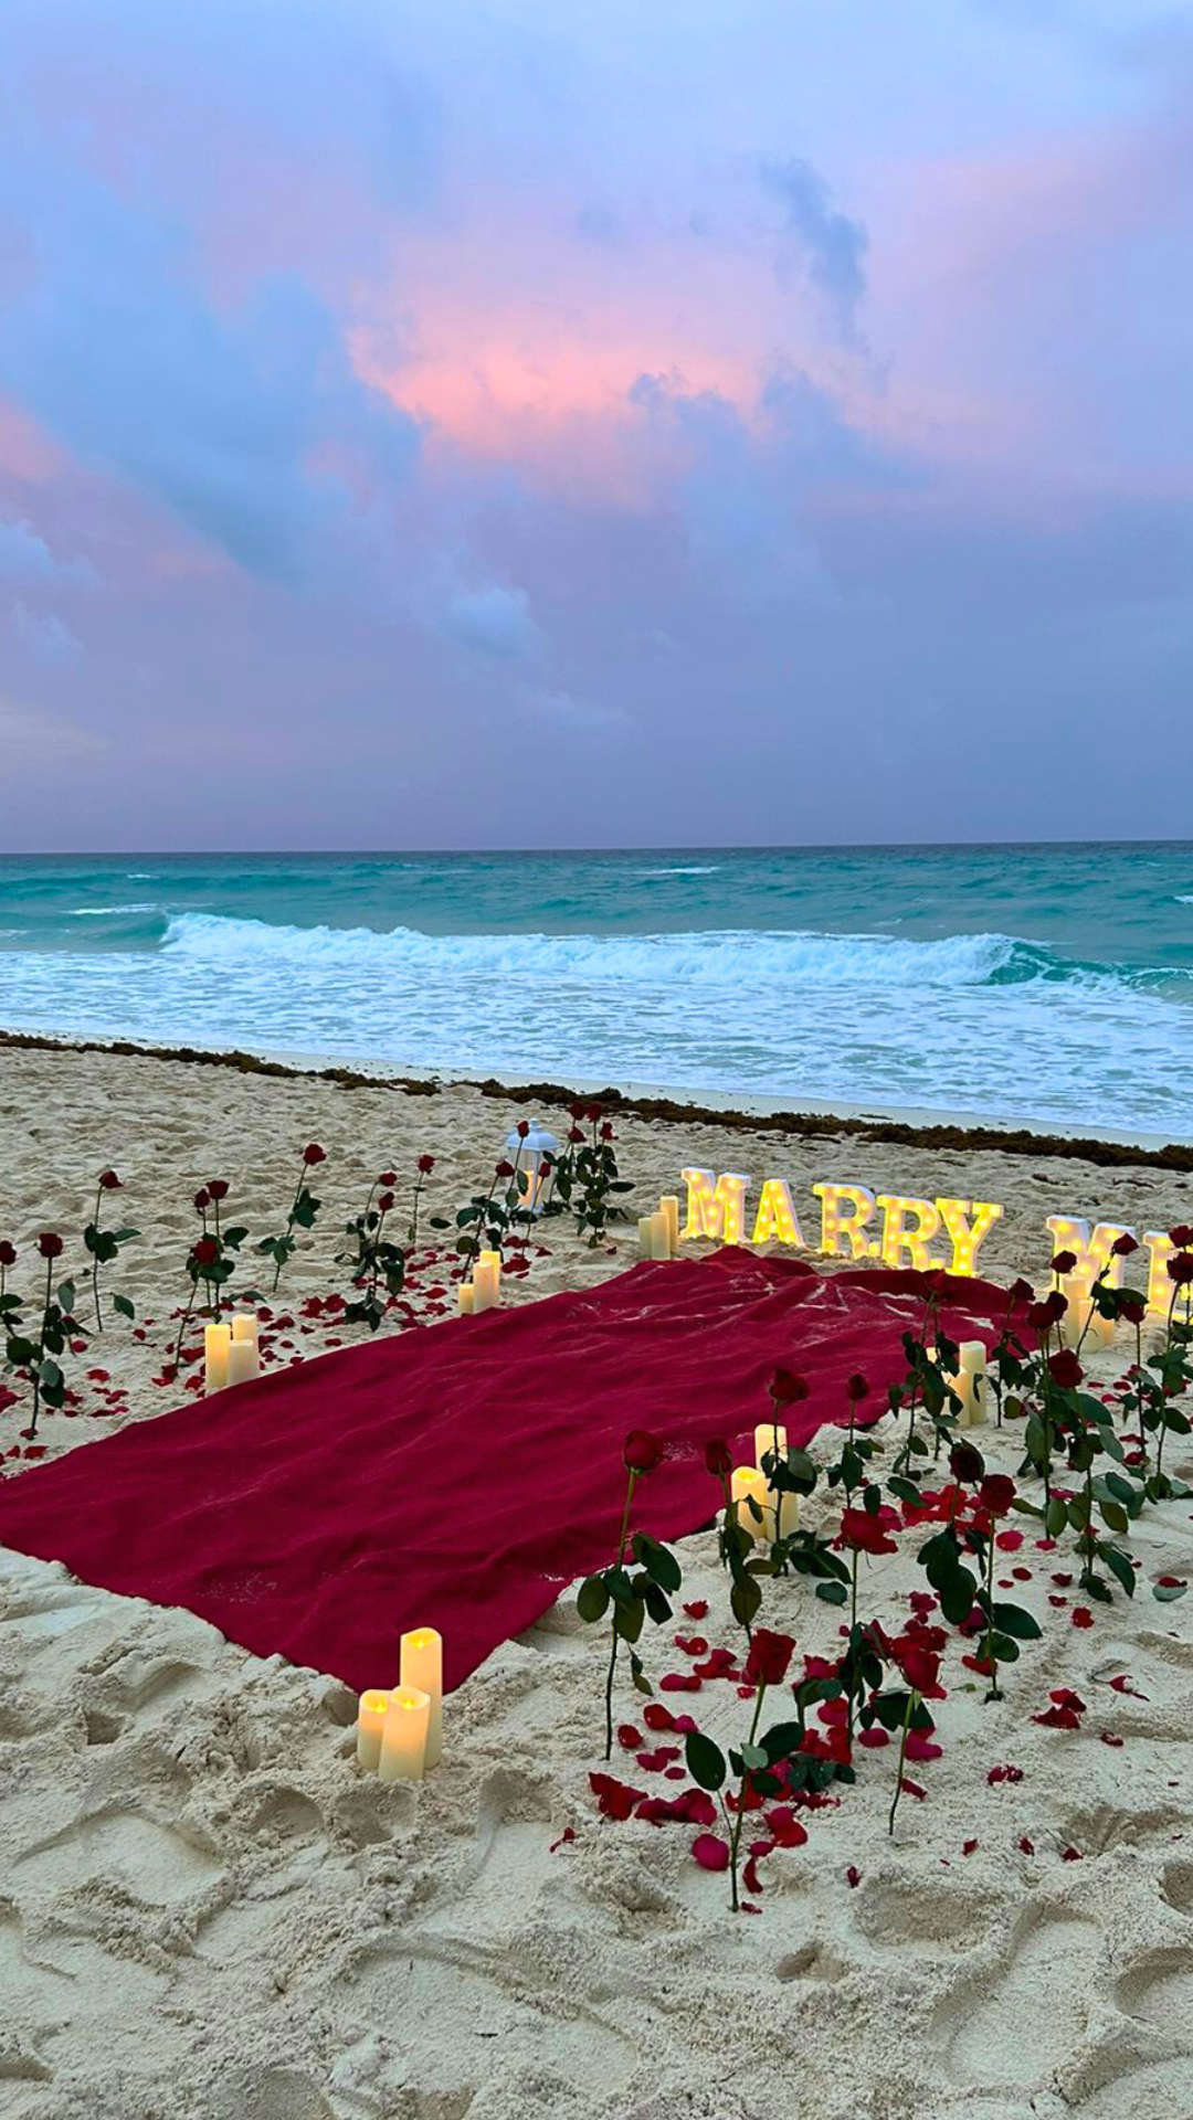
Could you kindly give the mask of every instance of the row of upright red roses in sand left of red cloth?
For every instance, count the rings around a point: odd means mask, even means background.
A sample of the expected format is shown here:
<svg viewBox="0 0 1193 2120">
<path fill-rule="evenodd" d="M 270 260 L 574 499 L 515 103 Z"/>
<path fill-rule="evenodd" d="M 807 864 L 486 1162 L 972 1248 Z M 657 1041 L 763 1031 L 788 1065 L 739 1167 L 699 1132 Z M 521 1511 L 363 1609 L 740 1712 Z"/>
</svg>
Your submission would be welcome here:
<svg viewBox="0 0 1193 2120">
<path fill-rule="evenodd" d="M 431 1230 L 450 1230 L 450 1253 L 463 1276 L 482 1249 L 497 1251 L 512 1272 L 526 1272 L 529 1230 L 567 1217 L 588 1244 L 599 1244 L 618 1215 L 620 1196 L 630 1183 L 618 1172 L 613 1124 L 599 1105 L 573 1105 L 567 1141 L 558 1155 L 535 1158 L 533 1168 L 522 1143 L 531 1134 L 529 1119 L 514 1128 L 518 1147 L 503 1155 L 484 1191 L 454 1213 L 429 1215 Z M 195 1319 L 221 1319 L 236 1306 L 267 1306 L 276 1297 L 282 1272 L 299 1240 L 314 1232 L 323 1202 L 314 1194 L 316 1172 L 327 1164 L 327 1151 L 310 1141 L 299 1158 L 295 1187 L 276 1234 L 250 1240 L 250 1230 L 231 1208 L 227 1179 L 208 1179 L 193 1194 L 195 1234 L 187 1244 L 187 1300 L 174 1310 L 170 1359 L 159 1382 L 174 1382 L 202 1361 L 202 1342 L 187 1340 Z M 425 1187 L 435 1170 L 435 1158 L 414 1160 L 412 1179 L 401 1185 L 397 1170 L 382 1170 L 371 1181 L 363 1208 L 344 1223 L 344 1244 L 335 1264 L 344 1270 L 346 1293 L 312 1297 L 338 1325 L 365 1325 L 369 1331 L 399 1310 L 408 1283 L 410 1257 L 418 1244 Z M 113 1225 L 104 1208 L 123 1183 L 115 1170 L 96 1181 L 96 1208 L 83 1230 L 85 1270 L 64 1274 L 68 1242 L 55 1230 L 42 1230 L 34 1244 L 34 1283 L 23 1293 L 13 1285 L 19 1264 L 17 1247 L 0 1240 L 0 1333 L 4 1367 L 30 1393 L 30 1423 L 21 1429 L 25 1456 L 38 1456 L 38 1420 L 42 1410 L 59 1412 L 70 1399 L 68 1363 L 85 1357 L 96 1333 L 104 1331 L 104 1312 L 136 1327 L 136 1310 L 127 1295 L 108 1291 L 108 1270 L 117 1266 L 125 1244 L 138 1230 Z M 535 1211 L 529 1198 L 535 1198 Z M 541 1247 L 539 1247 L 541 1249 Z M 435 1255 L 435 1253 L 431 1253 Z M 257 1257 L 272 1266 L 270 1285 L 253 1287 L 246 1261 Z M 62 1276 L 62 1278 L 59 1278 Z M 240 1276 L 240 1278 L 238 1278 Z M 270 1310 L 263 1312 L 272 1317 Z M 414 1323 L 408 1314 L 397 1323 Z M 106 1374 L 106 1372 L 96 1372 Z M 0 1386 L 0 1410 L 15 1395 Z"/>
</svg>

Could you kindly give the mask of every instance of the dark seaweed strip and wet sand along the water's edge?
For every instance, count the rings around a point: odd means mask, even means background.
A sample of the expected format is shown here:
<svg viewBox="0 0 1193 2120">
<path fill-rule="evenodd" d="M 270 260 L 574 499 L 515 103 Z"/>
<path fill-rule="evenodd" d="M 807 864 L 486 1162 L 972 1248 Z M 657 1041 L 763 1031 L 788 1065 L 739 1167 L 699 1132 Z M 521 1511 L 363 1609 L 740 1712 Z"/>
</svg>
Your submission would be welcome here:
<svg viewBox="0 0 1193 2120">
<path fill-rule="evenodd" d="M 1032 1121 L 919 1105 L 892 1105 L 877 1113 L 862 1105 L 836 1100 L 830 1105 L 811 1096 L 794 1107 L 790 1098 L 641 1081 L 618 1085 L 596 1077 L 573 1077 L 569 1083 L 558 1083 L 520 1073 L 503 1077 L 446 1075 L 433 1068 L 393 1073 L 382 1060 L 348 1064 L 333 1054 L 308 1054 L 291 1047 L 159 1045 L 149 1039 L 93 1039 L 72 1030 L 13 1030 L 6 1026 L 0 1026 L 0 1052 L 142 1056 L 189 1066 L 225 1066 L 240 1075 L 274 1079 L 314 1077 L 344 1090 L 388 1088 L 408 1096 L 476 1090 L 480 1096 L 505 1098 L 512 1105 L 567 1107 L 580 1098 L 599 1098 L 620 1113 L 667 1124 L 690 1121 L 796 1138 L 853 1136 L 919 1149 L 998 1149 L 1004 1155 L 1055 1155 L 1100 1166 L 1142 1164 L 1157 1170 L 1193 1172 L 1193 1138 L 1174 1141 L 1165 1134 L 1123 1132 L 1119 1128 L 1068 1134 Z"/>
</svg>

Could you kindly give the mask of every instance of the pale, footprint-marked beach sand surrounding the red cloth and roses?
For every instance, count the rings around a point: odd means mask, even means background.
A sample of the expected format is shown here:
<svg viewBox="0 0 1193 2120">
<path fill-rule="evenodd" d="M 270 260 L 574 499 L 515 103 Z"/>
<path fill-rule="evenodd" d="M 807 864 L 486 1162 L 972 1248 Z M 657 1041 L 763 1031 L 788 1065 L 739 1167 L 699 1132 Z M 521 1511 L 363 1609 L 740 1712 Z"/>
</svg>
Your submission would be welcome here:
<svg viewBox="0 0 1193 2120">
<path fill-rule="evenodd" d="M 178 1386 L 155 1378 L 185 1293 L 195 1187 L 227 1179 L 227 1215 L 267 1230 L 301 1147 L 327 1151 L 323 1219 L 274 1306 L 295 1323 L 270 1338 L 278 1363 L 310 1357 L 352 1338 L 301 1312 L 344 1285 L 340 1227 L 378 1170 L 410 1189 L 416 1158 L 435 1155 L 427 1234 L 429 1215 L 484 1187 L 520 1115 L 565 1124 L 520 1096 L 8 1047 L 4 1234 L 23 1251 L 40 1230 L 79 1230 L 106 1166 L 121 1221 L 140 1230 L 110 1270 L 138 1325 L 113 1321 L 91 1340 L 87 1367 L 108 1376 L 42 1418 L 47 1452 L 176 1403 Z M 1187 1170 L 1125 1149 L 1091 1162 L 620 1111 L 616 1143 L 630 1217 L 681 1191 L 688 1166 L 756 1183 L 779 1172 L 807 1208 L 822 1177 L 998 1200 L 1006 1213 L 981 1266 L 1000 1280 L 1047 1280 L 1047 1213 L 1140 1230 L 1193 1213 Z M 537 1236 L 512 1302 L 637 1257 L 635 1221 L 594 1251 L 563 1221 Z M 454 1302 L 442 1264 L 410 1300 L 425 1321 Z M 1093 1361 L 1093 1374 L 1119 1367 Z M 115 1384 L 127 1397 L 113 1401 Z M 21 1420 L 0 1416 L 2 1448 L 19 1446 Z M 813 1444 L 822 1461 L 830 1437 Z M 983 1448 L 991 1469 L 1015 1471 L 1008 1431 L 983 1431 Z M 807 1507 L 828 1522 L 824 1490 Z M 573 1592 L 448 1698 L 444 1764 L 386 1789 L 355 1764 L 355 1698 L 340 1681 L 6 1552 L 0 2109 L 762 2120 L 779 2103 L 800 2120 L 1159 2120 L 1178 2109 L 1189 2067 L 1193 1628 L 1187 1603 L 1155 1603 L 1144 1582 L 1182 1569 L 1187 1524 L 1189 1503 L 1146 1512 L 1131 1535 L 1140 1594 L 1095 1607 L 1091 1626 L 1074 1624 L 1072 1558 L 1027 1535 L 1006 1571 L 1025 1571 L 1017 1590 L 1044 1639 L 1025 1647 L 1006 1698 L 983 1704 L 949 1658 L 945 1755 L 915 1770 L 923 1796 L 902 1800 L 896 1836 L 889 1753 L 866 1755 L 841 1806 L 809 1817 L 807 1844 L 771 1857 L 756 1919 L 728 1912 L 726 1878 L 692 1861 L 684 1825 L 599 1815 L 588 1774 L 603 1764 L 603 1656 Z M 732 1641 L 713 1533 L 679 1541 L 679 1556 L 684 1598 L 709 1607 L 703 1635 Z M 870 1560 L 866 1582 L 894 1624 L 921 1577 L 900 1552 Z M 800 1651 L 834 1645 L 836 1615 L 807 1586 L 779 1588 L 773 1624 Z M 656 1671 L 686 1666 L 669 1641 L 652 1645 Z M 1078 1730 L 1034 1719 L 1053 1688 L 1080 1694 Z M 641 1704 L 626 1688 L 620 1717 L 639 1721 Z M 732 1741 L 734 1690 L 707 1685 L 698 1707 Z M 1015 1777 L 991 1779 L 1000 1766 Z M 611 1772 L 650 1785 L 633 1751 Z"/>
</svg>

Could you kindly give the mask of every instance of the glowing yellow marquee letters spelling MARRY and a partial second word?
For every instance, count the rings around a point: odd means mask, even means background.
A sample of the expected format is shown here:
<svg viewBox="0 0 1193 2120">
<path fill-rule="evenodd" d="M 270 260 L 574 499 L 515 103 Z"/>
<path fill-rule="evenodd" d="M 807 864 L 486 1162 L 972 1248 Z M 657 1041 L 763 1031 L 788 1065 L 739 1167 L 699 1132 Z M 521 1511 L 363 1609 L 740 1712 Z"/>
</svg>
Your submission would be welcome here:
<svg viewBox="0 0 1193 2120">
<path fill-rule="evenodd" d="M 809 1251 L 785 1179 L 764 1179 L 758 1194 L 749 1236 L 745 1196 L 754 1179 L 741 1170 L 679 1172 L 688 1187 L 688 1215 L 681 1238 L 711 1238 L 715 1244 L 788 1244 Z M 881 1259 L 883 1266 L 930 1272 L 943 1266 L 949 1274 L 976 1274 L 976 1257 L 1004 1208 L 998 1200 L 915 1200 L 909 1194 L 872 1194 L 868 1185 L 847 1185 L 822 1179 L 811 1187 L 819 1202 L 819 1251 L 830 1259 Z M 1114 1255 L 1119 1236 L 1136 1236 L 1127 1223 L 1100 1221 L 1089 1225 L 1080 1215 L 1049 1215 L 1044 1227 L 1053 1238 L 1051 1257 L 1072 1251 L 1076 1266 L 1066 1276 L 1068 1295 L 1089 1295 L 1100 1274 L 1106 1285 L 1123 1287 L 1125 1259 Z M 1148 1230 L 1136 1242 L 1148 1253 L 1148 1310 L 1168 1317 L 1172 1280 L 1168 1261 L 1176 1244 L 1163 1230 Z"/>
</svg>

